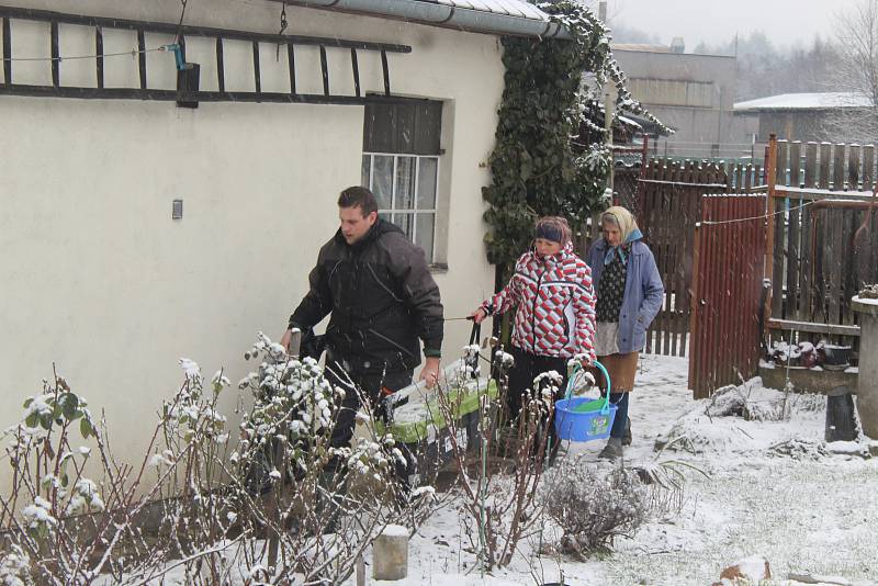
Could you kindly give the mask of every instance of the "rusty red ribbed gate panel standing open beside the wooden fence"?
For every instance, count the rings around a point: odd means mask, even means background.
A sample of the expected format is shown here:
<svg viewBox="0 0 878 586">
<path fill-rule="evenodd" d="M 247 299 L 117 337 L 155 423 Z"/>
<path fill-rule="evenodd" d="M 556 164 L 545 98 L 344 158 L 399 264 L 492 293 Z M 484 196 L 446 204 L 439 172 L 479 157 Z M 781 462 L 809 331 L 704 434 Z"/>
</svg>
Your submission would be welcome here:
<svg viewBox="0 0 878 586">
<path fill-rule="evenodd" d="M 689 387 L 702 398 L 755 374 L 765 195 L 708 195 L 695 232 Z"/>
</svg>

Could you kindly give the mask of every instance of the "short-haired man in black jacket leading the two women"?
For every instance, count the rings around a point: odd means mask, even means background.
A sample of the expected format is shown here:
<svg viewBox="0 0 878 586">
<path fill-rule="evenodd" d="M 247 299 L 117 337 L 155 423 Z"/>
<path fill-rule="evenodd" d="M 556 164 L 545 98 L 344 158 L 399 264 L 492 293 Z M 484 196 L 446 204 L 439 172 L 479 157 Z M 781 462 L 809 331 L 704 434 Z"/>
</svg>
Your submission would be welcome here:
<svg viewBox="0 0 878 586">
<path fill-rule="evenodd" d="M 382 392 L 420 379 L 432 386 L 439 376 L 442 303 L 420 248 L 390 222 L 379 219 L 371 191 L 352 187 L 338 199 L 341 226 L 317 256 L 311 289 L 290 316 L 281 343 L 289 348 L 292 329 L 302 331 L 331 314 L 326 328 L 327 375 L 346 390 L 333 444 L 348 446 L 353 435 L 357 393 L 333 376 L 342 369 L 375 405 Z"/>
</svg>

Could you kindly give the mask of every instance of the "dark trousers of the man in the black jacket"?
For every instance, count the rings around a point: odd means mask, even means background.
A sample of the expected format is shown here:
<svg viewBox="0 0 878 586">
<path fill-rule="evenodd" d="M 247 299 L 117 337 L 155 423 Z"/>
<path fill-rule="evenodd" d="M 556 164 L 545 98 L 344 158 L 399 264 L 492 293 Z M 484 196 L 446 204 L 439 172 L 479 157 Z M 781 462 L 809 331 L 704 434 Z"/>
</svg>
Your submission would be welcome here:
<svg viewBox="0 0 878 586">
<path fill-rule="evenodd" d="M 341 402 L 336 426 L 333 428 L 330 441 L 334 448 L 350 446 L 350 440 L 353 437 L 353 428 L 357 427 L 357 412 L 360 410 L 361 403 L 359 393 L 350 387 L 351 382 L 364 395 L 364 398 L 369 402 L 369 408 L 373 414 L 376 413 L 381 398 L 383 397 L 383 388 L 396 392 L 412 384 L 413 371 L 410 370 L 379 373 L 358 373 L 356 371 L 342 373 L 342 360 L 327 356 L 326 361 L 326 380 L 329 381 L 333 387 L 340 386 L 345 390 L 345 399 Z M 338 375 L 336 373 L 338 373 Z M 350 381 L 348 381 L 348 379 L 350 379 Z M 329 462 L 328 467 L 335 470 L 342 464 L 344 462 L 334 458 Z"/>
</svg>

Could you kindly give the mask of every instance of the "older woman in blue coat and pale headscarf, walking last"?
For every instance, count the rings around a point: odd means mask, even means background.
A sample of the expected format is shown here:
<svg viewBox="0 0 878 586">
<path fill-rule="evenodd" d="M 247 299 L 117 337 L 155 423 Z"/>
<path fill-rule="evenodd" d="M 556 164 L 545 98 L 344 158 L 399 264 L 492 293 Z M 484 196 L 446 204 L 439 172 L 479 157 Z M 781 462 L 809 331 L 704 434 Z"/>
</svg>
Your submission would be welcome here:
<svg viewBox="0 0 878 586">
<path fill-rule="evenodd" d="M 610 401 L 618 406 L 600 458 L 616 459 L 622 455 L 622 438 L 630 428 L 629 393 L 638 357 L 646 343 L 646 328 L 662 307 L 664 286 L 631 212 L 610 207 L 600 216 L 600 227 L 603 238 L 588 250 L 597 293 L 595 353 L 610 374 Z"/>
</svg>

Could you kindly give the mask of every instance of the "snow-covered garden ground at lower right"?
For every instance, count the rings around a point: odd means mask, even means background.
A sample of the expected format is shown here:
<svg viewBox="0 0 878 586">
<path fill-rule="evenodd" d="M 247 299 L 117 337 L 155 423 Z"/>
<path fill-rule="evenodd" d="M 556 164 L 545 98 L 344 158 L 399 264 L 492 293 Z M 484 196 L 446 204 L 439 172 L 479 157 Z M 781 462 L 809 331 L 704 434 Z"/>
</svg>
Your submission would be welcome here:
<svg viewBox="0 0 878 586">
<path fill-rule="evenodd" d="M 559 582 L 563 572 L 572 586 L 706 585 L 754 554 L 768 560 L 774 584 L 788 584 L 791 573 L 878 584 L 878 459 L 857 455 L 860 444 L 828 449 L 822 397 L 793 396 L 785 421 L 709 417 L 703 413 L 709 402 L 696 402 L 687 391 L 687 364 L 643 357 L 631 403 L 634 440 L 627 452 L 627 464 L 649 465 L 658 436 L 673 430 L 689 438 L 693 451 L 660 455 L 710 476 L 687 475 L 678 514 L 651 521 L 633 539 L 617 540 L 616 551 L 599 560 L 538 557 L 539 543 L 525 542 L 510 567 L 483 576 L 464 551 L 458 512 L 447 507 L 413 537 L 406 579 L 369 584 L 506 586 Z M 783 402 L 780 393 L 757 382 L 741 392 L 756 414 L 770 414 Z M 607 466 L 596 458 L 601 447 L 573 444 L 569 453 Z"/>
</svg>

